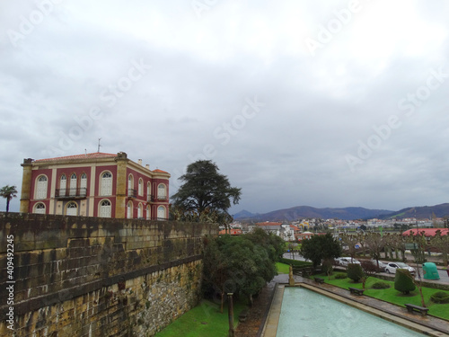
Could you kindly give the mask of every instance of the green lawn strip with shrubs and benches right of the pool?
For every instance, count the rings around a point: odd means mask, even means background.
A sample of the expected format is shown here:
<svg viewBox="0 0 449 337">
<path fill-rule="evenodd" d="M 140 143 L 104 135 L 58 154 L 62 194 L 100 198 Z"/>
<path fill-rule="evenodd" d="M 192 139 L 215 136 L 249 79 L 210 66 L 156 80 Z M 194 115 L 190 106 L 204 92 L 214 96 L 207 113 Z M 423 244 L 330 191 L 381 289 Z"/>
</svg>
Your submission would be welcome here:
<svg viewBox="0 0 449 337">
<path fill-rule="evenodd" d="M 349 287 L 362 288 L 362 283 L 354 283 L 352 279 L 333 279 L 332 275 L 330 276 L 330 278 L 322 275 L 320 277 L 325 279 L 327 283 L 337 286 L 339 288 L 346 288 L 346 289 L 348 289 Z M 390 284 L 391 287 L 387 289 L 372 288 L 372 285 L 377 281 L 386 282 Z M 429 308 L 428 314 L 443 318 L 445 320 L 449 320 L 449 306 L 447 304 L 436 304 L 430 300 L 430 296 L 436 293 L 437 291 L 444 291 L 444 290 L 425 288 L 425 287 L 422 288 L 424 302 L 426 303 L 426 306 Z M 445 291 L 445 293 L 449 293 L 449 291 Z M 382 299 L 385 302 L 390 302 L 398 306 L 404 306 L 406 303 L 421 306 L 421 297 L 419 295 L 418 288 L 416 288 L 415 291 L 412 291 L 409 295 L 403 295 L 401 292 L 399 292 L 394 288 L 394 281 L 388 281 L 384 279 L 376 279 L 376 278 L 367 279 L 365 284 L 364 295 Z"/>
</svg>

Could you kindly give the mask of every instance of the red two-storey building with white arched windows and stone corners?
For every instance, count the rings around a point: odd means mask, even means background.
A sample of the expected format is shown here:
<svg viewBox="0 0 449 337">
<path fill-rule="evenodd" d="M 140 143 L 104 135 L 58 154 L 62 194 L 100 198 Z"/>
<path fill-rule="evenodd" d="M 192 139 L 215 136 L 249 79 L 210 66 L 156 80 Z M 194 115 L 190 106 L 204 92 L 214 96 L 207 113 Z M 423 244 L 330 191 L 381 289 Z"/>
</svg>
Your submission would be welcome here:
<svg viewBox="0 0 449 337">
<path fill-rule="evenodd" d="M 167 219 L 170 174 L 128 155 L 92 153 L 24 159 L 21 212 Z"/>
</svg>

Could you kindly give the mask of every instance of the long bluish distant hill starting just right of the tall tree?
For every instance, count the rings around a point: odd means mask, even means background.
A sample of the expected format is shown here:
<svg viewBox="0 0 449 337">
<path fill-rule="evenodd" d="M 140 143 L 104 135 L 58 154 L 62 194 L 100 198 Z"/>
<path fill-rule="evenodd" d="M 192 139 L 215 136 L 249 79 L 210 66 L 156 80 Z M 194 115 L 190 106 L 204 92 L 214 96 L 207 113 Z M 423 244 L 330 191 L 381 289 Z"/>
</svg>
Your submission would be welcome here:
<svg viewBox="0 0 449 337">
<path fill-rule="evenodd" d="M 372 218 L 392 214 L 392 210 L 367 209 L 361 207 L 348 208 L 313 208 L 310 206 L 297 206 L 294 208 L 278 209 L 264 214 L 252 214 L 243 210 L 234 214 L 235 220 L 253 219 L 260 221 L 294 221 L 304 217 L 315 218 L 339 218 L 342 220 L 354 220 L 357 218 Z"/>
</svg>

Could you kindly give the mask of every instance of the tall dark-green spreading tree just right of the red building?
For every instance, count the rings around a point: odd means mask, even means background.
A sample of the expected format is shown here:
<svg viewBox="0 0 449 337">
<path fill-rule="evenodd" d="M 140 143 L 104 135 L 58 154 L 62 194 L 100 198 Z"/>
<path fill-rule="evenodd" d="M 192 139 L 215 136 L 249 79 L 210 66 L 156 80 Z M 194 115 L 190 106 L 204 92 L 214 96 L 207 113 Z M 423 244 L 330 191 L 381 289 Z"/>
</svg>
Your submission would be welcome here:
<svg viewBox="0 0 449 337">
<path fill-rule="evenodd" d="M 173 209 L 182 217 L 202 217 L 205 214 L 215 218 L 216 222 L 229 224 L 232 217 L 228 209 L 238 204 L 241 189 L 231 187 L 224 174 L 218 173 L 218 167 L 210 160 L 198 160 L 187 166 L 185 174 L 179 180 L 180 189 L 172 195 Z M 174 213 L 176 213 L 174 212 Z"/>
</svg>

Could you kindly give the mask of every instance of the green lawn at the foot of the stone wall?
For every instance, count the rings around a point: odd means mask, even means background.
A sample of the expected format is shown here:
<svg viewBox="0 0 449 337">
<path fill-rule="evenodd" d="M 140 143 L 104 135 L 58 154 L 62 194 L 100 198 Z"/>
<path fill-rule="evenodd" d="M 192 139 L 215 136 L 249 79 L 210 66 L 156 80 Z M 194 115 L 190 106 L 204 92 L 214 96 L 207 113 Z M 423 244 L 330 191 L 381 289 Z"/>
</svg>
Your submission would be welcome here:
<svg viewBox="0 0 449 337">
<path fill-rule="evenodd" d="M 241 301 L 233 305 L 234 328 L 237 326 L 239 314 L 246 307 Z M 203 299 L 201 303 L 181 315 L 176 321 L 156 333 L 155 337 L 226 337 L 229 331 L 228 307 L 225 305 L 220 314 L 220 305 Z"/>
</svg>

